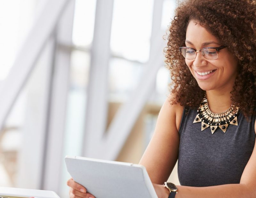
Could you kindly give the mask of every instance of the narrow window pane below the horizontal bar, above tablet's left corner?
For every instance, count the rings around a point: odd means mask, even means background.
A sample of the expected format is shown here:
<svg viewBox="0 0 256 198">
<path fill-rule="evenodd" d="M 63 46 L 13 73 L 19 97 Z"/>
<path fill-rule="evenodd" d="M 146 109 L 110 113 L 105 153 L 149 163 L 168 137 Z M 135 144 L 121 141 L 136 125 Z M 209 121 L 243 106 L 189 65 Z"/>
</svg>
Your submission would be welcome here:
<svg viewBox="0 0 256 198">
<path fill-rule="evenodd" d="M 68 93 L 66 131 L 63 156 L 81 156 L 84 137 L 84 122 L 86 112 L 86 90 L 90 70 L 90 54 L 73 50 L 71 52 L 70 88 Z M 62 164 L 60 197 L 68 198 L 66 182 L 70 178 L 65 163 Z"/>
</svg>

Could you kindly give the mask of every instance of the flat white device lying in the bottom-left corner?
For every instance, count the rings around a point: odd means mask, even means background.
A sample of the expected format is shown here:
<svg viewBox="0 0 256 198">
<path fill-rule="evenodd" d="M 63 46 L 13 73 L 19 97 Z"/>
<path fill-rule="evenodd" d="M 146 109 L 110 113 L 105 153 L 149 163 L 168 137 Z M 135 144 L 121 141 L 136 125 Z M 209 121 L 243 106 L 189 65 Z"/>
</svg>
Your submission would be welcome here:
<svg viewBox="0 0 256 198">
<path fill-rule="evenodd" d="M 53 191 L 0 187 L 0 198 L 60 198 Z"/>
</svg>

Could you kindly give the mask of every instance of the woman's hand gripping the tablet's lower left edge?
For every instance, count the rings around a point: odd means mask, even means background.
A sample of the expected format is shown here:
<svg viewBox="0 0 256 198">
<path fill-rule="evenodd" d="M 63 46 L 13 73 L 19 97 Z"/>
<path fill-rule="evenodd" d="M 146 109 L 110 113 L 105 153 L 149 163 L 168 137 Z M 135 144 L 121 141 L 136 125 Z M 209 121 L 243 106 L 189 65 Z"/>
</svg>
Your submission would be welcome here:
<svg viewBox="0 0 256 198">
<path fill-rule="evenodd" d="M 70 198 L 95 198 L 92 194 L 86 192 L 86 188 L 76 183 L 73 178 L 68 179 L 67 185 L 69 189 Z"/>
</svg>

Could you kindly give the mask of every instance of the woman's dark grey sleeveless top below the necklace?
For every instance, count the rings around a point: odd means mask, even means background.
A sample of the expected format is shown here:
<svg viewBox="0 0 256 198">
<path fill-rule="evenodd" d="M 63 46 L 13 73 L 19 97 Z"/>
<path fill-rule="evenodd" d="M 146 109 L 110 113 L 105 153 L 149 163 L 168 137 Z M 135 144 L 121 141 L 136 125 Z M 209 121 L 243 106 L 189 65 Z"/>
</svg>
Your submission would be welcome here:
<svg viewBox="0 0 256 198">
<path fill-rule="evenodd" d="M 226 133 L 220 128 L 201 131 L 201 122 L 194 123 L 197 110 L 184 108 L 180 123 L 178 176 L 182 186 L 205 187 L 240 182 L 255 144 L 254 123 L 238 112 L 238 126 L 229 125 Z"/>
</svg>

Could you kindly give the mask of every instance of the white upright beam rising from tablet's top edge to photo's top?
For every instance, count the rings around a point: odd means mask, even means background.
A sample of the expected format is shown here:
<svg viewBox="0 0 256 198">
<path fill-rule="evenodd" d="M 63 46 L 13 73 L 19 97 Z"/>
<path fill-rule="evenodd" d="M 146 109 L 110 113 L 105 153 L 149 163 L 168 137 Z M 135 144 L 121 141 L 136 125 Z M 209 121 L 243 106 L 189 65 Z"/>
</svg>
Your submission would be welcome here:
<svg viewBox="0 0 256 198">
<path fill-rule="evenodd" d="M 95 155 L 95 144 L 100 142 L 106 130 L 113 4 L 113 0 L 97 0 L 96 4 L 84 126 L 84 156 Z"/>
</svg>

